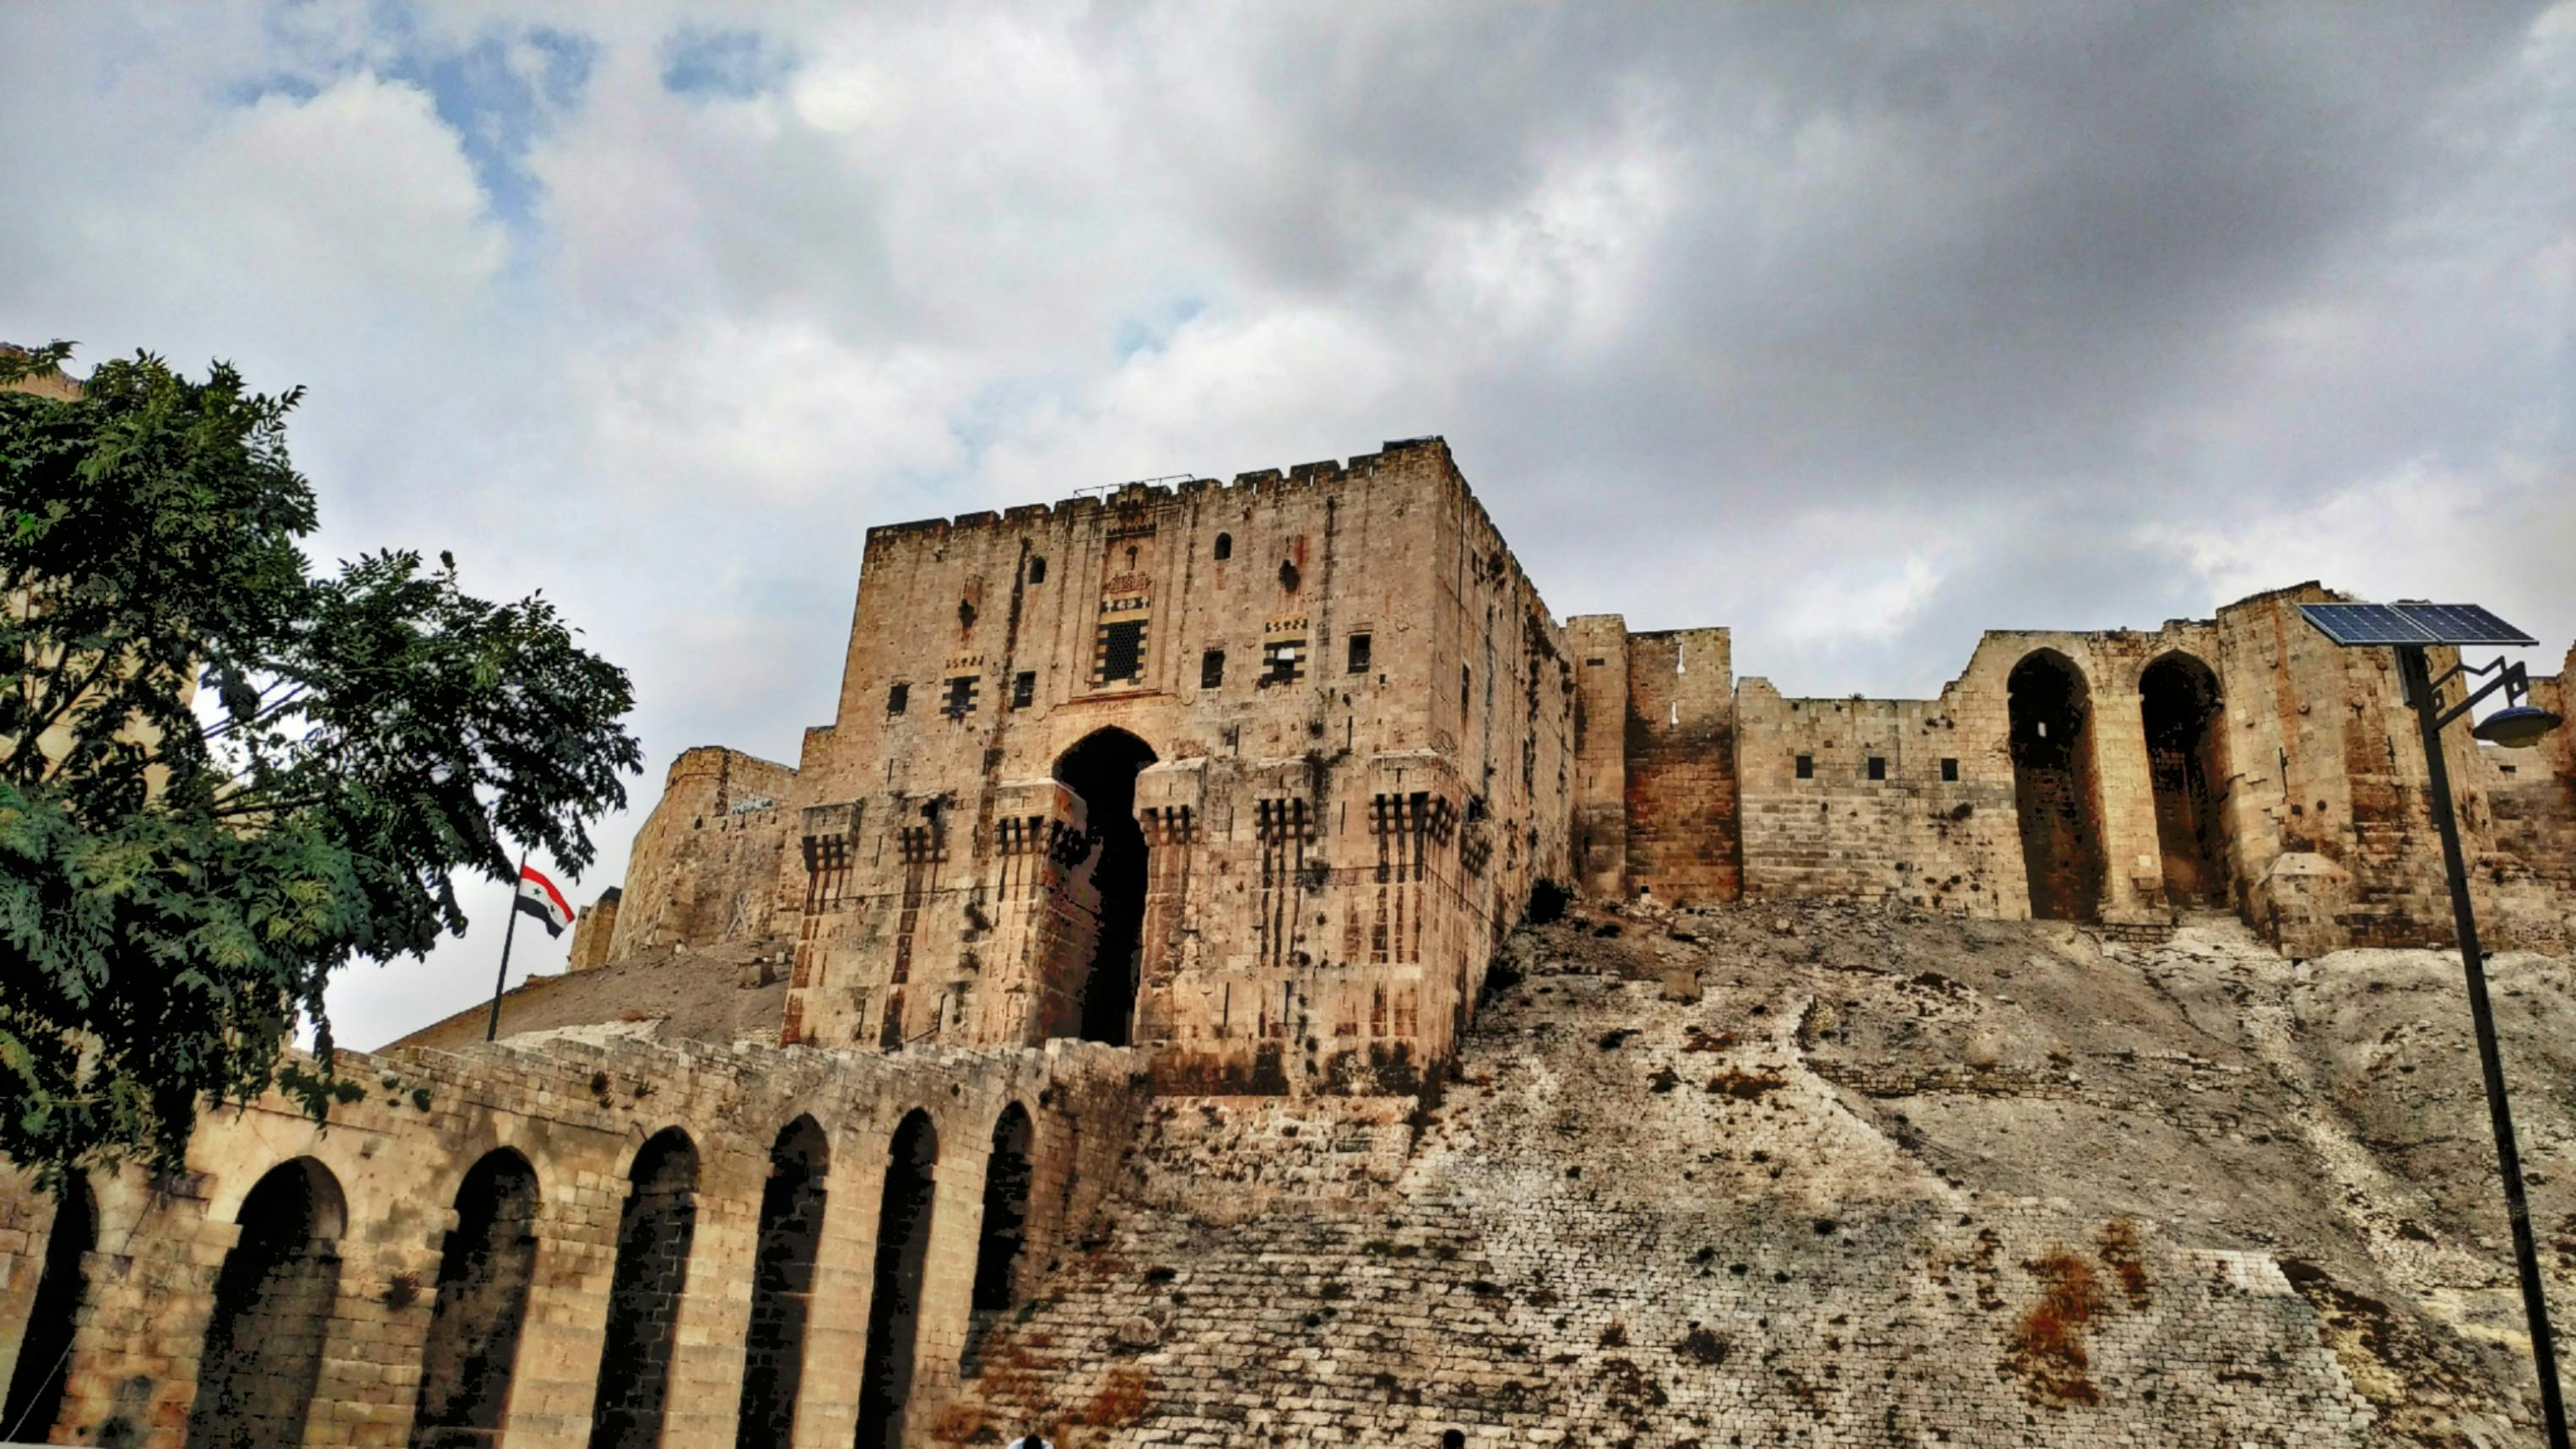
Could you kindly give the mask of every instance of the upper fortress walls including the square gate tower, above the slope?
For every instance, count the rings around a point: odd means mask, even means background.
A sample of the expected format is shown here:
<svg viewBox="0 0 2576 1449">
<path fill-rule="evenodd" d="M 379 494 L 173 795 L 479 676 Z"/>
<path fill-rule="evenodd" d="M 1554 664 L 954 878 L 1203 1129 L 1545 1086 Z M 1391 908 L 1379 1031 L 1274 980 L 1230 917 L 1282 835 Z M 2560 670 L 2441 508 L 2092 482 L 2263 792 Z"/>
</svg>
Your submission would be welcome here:
<svg viewBox="0 0 2576 1449">
<path fill-rule="evenodd" d="M 1556 625 L 1440 440 L 878 528 L 835 723 L 796 770 L 680 757 L 611 955 L 778 934 L 791 1042 L 1079 1035 L 1164 1091 L 1406 1096 L 1538 878 L 2442 945 L 2414 721 L 2385 651 L 2298 618 L 2326 597 L 1808 700 L 1723 628 Z M 2447 749 L 2499 942 L 2566 939 L 2568 744 Z"/>
</svg>

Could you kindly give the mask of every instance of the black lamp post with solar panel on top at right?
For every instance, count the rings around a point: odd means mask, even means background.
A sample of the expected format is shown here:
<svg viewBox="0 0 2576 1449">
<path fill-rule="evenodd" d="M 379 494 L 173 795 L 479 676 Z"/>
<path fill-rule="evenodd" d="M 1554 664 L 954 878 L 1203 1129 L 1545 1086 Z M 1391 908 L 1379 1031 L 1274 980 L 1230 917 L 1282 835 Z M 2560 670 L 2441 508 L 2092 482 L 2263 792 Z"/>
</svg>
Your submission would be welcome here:
<svg viewBox="0 0 2576 1449">
<path fill-rule="evenodd" d="M 2532 1241 L 2532 1210 L 2522 1197 L 2522 1150 L 2514 1143 L 2514 1112 L 2504 1096 L 2504 1058 L 2496 1055 L 2496 1014 L 2486 999 L 2486 955 L 2478 950 L 2478 914 L 2468 901 L 2468 862 L 2460 854 L 2460 821 L 2450 806 L 2450 762 L 2442 757 L 2442 726 L 2455 723 L 2478 700 L 2504 690 L 2509 708 L 2470 726 L 2470 734 L 2506 749 L 2527 749 L 2558 728 L 2550 710 L 2524 705 L 2530 674 L 2522 664 L 2458 664 L 2439 679 L 2424 656 L 2429 646 L 2499 643 L 2530 646 L 2532 636 L 2512 628 L 2476 605 L 2298 605 L 2339 646 L 2391 646 L 2398 654 L 2398 679 L 2424 736 L 2424 775 L 2432 798 L 2432 824 L 2442 834 L 2442 870 L 2450 875 L 2450 911 L 2460 932 L 2460 970 L 2468 975 L 2468 1017 L 2478 1035 L 2478 1071 L 2486 1076 L 2486 1114 L 2496 1130 L 2496 1166 L 2504 1171 L 2504 1212 L 2514 1228 L 2514 1266 L 2522 1274 L 2522 1315 L 2532 1331 L 2532 1364 L 2540 1369 L 2540 1421 L 2550 1449 L 2568 1449 L 2568 1416 L 2558 1395 L 2558 1349 L 2550 1338 L 2550 1300 L 2540 1279 L 2540 1248 Z M 2442 685 L 2494 674 L 2458 705 L 2442 705 Z"/>
</svg>

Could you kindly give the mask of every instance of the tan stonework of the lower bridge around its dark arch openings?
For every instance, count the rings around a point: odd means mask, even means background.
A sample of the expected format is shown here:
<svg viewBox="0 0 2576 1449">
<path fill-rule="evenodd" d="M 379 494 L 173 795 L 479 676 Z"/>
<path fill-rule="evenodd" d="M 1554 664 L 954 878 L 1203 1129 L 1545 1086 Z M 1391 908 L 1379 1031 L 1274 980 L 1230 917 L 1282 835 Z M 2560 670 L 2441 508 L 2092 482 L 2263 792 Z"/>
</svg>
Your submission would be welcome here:
<svg viewBox="0 0 2576 1449">
<path fill-rule="evenodd" d="M 461 1186 L 477 1163 L 502 1153 L 513 1171 L 533 1171 L 536 1259 L 515 1289 L 526 1300 L 513 1325 L 515 1351 L 502 1356 L 505 1369 L 515 1359 L 515 1372 L 500 1387 L 484 1385 L 489 1428 L 523 1449 L 592 1444 L 613 1284 L 634 1277 L 618 1271 L 629 1179 L 647 1143 L 685 1143 L 688 1225 L 670 1243 L 670 1264 L 685 1277 L 670 1284 L 667 1338 L 647 1343 L 667 1361 L 667 1382 L 629 1395 L 662 1405 L 659 1439 L 644 1426 L 641 1439 L 611 1441 L 729 1446 L 744 1405 L 744 1364 L 799 1359 L 799 1441 L 848 1444 L 860 1377 L 873 1361 L 878 1204 L 899 1122 L 925 1114 L 935 1132 L 935 1197 L 917 1313 L 902 1325 L 914 1377 L 896 1395 L 935 1398 L 956 1377 L 974 1331 L 969 1297 L 997 1122 L 1018 1107 L 1033 1127 L 1025 1179 L 1012 1179 L 1025 1181 L 1018 1199 L 1025 1246 L 1015 1256 L 1023 1266 L 1015 1292 L 1025 1295 L 1115 1179 L 1136 1102 L 1128 1053 L 1074 1042 L 1043 1053 L 904 1055 L 551 1042 L 541 1053 L 345 1055 L 343 1068 L 368 1086 L 368 1099 L 337 1109 L 327 1132 L 291 1104 L 263 1099 L 206 1117 L 188 1150 L 191 1171 L 175 1179 L 126 1171 L 88 1184 L 100 1212 L 93 1248 L 80 1259 L 88 1284 L 57 1441 L 175 1449 L 191 1416 L 216 1413 L 198 1403 L 198 1385 L 234 1385 L 240 1400 L 245 1372 L 268 1374 L 265 1403 L 304 1413 L 301 1444 L 410 1441 L 425 1369 L 438 1385 L 471 1372 L 453 1359 L 461 1341 L 438 1305 L 448 1302 L 453 1315 L 477 1292 L 477 1282 L 453 1274 L 482 1274 L 489 1264 L 459 1269 L 446 1248 L 471 1228 L 474 1204 Z M 804 1248 L 811 1297 L 796 1338 L 781 1343 L 786 1328 L 775 1313 L 752 1318 L 752 1269 L 775 1238 L 765 1217 L 770 1150 L 799 1117 L 819 1130 L 827 1163 L 819 1225 L 809 1225 Z M 312 1184 L 327 1199 L 319 1225 L 289 1243 L 325 1305 L 322 1318 L 296 1318 L 317 1331 L 319 1349 L 301 1361 L 281 1361 L 296 1359 L 296 1346 L 273 1333 L 224 1341 L 219 1331 L 240 1307 L 232 1300 L 245 1253 L 278 1233 L 276 1181 Z M 41 1225 L 52 1217 L 52 1204 L 23 1179 L 0 1179 L 0 1292 L 15 1295 L 41 1277 Z M 15 1297 L 8 1302 L 15 1307 Z M 224 1341 L 214 1361 L 209 1341 Z M 747 1346 L 770 1351 L 747 1356 Z M 608 1361 L 631 1380 L 629 1356 Z M 15 1341 L 0 1338 L 0 1380 L 13 1359 Z M 466 1428 L 461 1418 L 448 1418 L 456 1434 Z"/>
</svg>

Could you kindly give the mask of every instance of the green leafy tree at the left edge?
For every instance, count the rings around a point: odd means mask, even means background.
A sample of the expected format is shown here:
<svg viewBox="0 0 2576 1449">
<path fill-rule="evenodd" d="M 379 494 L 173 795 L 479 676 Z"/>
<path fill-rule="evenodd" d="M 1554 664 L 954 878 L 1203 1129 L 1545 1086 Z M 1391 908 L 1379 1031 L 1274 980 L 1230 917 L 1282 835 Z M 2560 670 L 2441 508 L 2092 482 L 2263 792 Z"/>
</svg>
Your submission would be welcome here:
<svg viewBox="0 0 2576 1449">
<path fill-rule="evenodd" d="M 505 842 L 580 872 L 641 759 L 626 674 L 544 597 L 446 553 L 309 569 L 299 396 L 152 355 L 0 391 L 0 1153 L 49 1179 L 175 1166 L 270 1084 L 350 1099 L 330 973 L 464 932 L 453 878 L 515 880 Z"/>
</svg>

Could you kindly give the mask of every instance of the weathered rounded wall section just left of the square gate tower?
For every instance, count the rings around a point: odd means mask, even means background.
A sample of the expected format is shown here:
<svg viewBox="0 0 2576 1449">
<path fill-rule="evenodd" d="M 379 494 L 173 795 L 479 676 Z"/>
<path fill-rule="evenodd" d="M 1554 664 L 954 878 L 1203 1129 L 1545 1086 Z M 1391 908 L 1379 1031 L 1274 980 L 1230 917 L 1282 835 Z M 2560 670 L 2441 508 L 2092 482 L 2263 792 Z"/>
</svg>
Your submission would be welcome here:
<svg viewBox="0 0 2576 1449">
<path fill-rule="evenodd" d="M 605 960 L 770 934 L 796 800 L 786 764 L 716 746 L 672 759 L 626 860 Z"/>
</svg>

